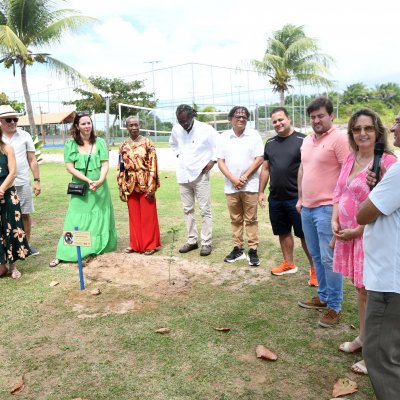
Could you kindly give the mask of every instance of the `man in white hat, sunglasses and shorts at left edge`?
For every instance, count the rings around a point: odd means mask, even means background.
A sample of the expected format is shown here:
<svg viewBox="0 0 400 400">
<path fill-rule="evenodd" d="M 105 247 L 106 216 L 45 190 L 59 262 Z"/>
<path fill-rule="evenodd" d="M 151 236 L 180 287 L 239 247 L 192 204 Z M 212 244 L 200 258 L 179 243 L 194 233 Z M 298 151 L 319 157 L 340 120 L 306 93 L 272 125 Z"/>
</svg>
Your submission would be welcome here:
<svg viewBox="0 0 400 400">
<path fill-rule="evenodd" d="M 35 196 L 40 194 L 39 165 L 35 157 L 35 145 L 31 135 L 17 128 L 18 114 L 11 106 L 0 106 L 0 126 L 3 131 L 3 142 L 10 144 L 15 152 L 17 164 L 17 177 L 14 186 L 20 198 L 22 220 L 24 230 L 29 242 L 31 255 L 39 254 L 30 244 L 32 220 L 30 214 L 35 211 L 32 199 L 32 186 L 29 171 L 33 175 L 33 192 Z"/>
</svg>

